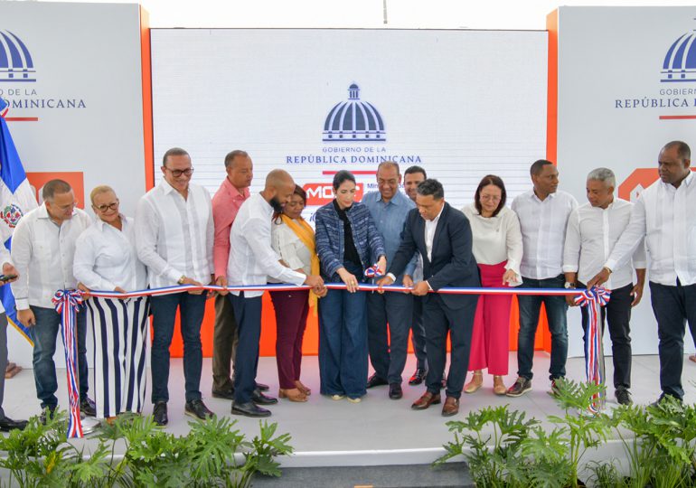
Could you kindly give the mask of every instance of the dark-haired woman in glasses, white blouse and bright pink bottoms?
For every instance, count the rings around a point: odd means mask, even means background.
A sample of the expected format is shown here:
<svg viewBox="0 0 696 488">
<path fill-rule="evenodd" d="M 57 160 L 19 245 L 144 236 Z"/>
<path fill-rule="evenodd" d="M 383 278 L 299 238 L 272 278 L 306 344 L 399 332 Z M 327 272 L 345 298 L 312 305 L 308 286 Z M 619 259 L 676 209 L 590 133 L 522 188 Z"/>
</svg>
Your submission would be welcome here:
<svg viewBox="0 0 696 488">
<path fill-rule="evenodd" d="M 486 287 L 518 286 L 522 260 L 520 221 L 505 207 L 505 185 L 494 174 L 484 176 L 474 203 L 462 209 L 471 223 L 474 257 Z M 493 375 L 494 393 L 505 394 L 503 376 L 508 373 L 510 350 L 510 307 L 512 296 L 481 296 L 476 308 L 471 338 L 469 371 L 474 376 L 464 391 L 474 393 L 484 381 L 484 368 Z"/>
</svg>

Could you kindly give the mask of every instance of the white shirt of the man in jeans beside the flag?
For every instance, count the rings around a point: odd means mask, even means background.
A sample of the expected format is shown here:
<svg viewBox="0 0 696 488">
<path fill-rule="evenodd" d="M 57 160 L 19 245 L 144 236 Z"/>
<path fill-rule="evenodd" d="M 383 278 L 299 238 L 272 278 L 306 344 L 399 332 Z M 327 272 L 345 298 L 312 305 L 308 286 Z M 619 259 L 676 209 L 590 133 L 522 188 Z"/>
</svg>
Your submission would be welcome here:
<svg viewBox="0 0 696 488">
<path fill-rule="evenodd" d="M 71 219 L 58 225 L 45 203 L 24 215 L 12 238 L 12 260 L 19 274 L 11 285 L 17 310 L 29 305 L 53 308 L 56 290 L 77 286 L 72 274 L 75 242 L 91 223 L 87 213 L 75 209 Z"/>
</svg>

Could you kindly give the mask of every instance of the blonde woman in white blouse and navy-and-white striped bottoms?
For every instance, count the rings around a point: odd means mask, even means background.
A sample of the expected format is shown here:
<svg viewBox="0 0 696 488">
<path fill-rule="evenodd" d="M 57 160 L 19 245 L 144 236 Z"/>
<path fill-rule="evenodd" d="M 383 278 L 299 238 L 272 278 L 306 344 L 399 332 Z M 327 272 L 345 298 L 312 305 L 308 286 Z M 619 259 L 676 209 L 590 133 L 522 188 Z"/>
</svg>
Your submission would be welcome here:
<svg viewBox="0 0 696 488">
<path fill-rule="evenodd" d="M 133 219 L 118 212 L 118 198 L 110 187 L 98 186 L 89 197 L 98 220 L 75 245 L 73 273 L 80 289 L 144 289 L 146 267 L 137 258 Z M 140 412 L 146 388 L 147 298 L 91 296 L 85 303 L 94 332 L 97 417 Z"/>
</svg>

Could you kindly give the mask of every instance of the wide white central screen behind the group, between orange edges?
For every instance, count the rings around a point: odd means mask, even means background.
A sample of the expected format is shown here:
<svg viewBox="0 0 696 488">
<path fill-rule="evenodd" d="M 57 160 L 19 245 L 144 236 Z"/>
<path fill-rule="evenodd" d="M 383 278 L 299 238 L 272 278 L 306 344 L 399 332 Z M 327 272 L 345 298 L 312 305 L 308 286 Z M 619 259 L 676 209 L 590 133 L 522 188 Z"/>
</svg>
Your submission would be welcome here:
<svg viewBox="0 0 696 488">
<path fill-rule="evenodd" d="M 511 196 L 526 190 L 545 154 L 545 32 L 170 29 L 152 32 L 152 49 L 157 181 L 174 145 L 211 192 L 237 148 L 254 161 L 252 191 L 273 168 L 306 185 L 395 158 L 425 167 L 461 207 L 484 174 L 503 176 Z M 384 142 L 323 141 L 353 83 L 379 112 Z M 374 189 L 373 174 L 358 178 Z"/>
</svg>

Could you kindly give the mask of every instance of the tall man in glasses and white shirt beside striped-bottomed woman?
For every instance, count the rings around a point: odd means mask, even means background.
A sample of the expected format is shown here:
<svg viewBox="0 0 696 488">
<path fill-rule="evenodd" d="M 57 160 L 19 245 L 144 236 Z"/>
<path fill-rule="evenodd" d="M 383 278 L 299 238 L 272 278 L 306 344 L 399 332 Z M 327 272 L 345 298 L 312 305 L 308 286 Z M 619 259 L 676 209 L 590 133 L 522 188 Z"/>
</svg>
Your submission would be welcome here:
<svg viewBox="0 0 696 488">
<path fill-rule="evenodd" d="M 213 222 L 211 196 L 202 186 L 190 184 L 191 156 L 181 148 L 169 149 L 162 161 L 163 180 L 140 199 L 136 210 L 137 256 L 147 267 L 151 288 L 202 286 L 212 282 Z M 203 404 L 201 324 L 207 294 L 192 290 L 153 296 L 152 402 L 158 425 L 168 422 L 169 346 L 177 309 L 181 314 L 184 413 L 194 418 L 212 416 Z"/>
</svg>

